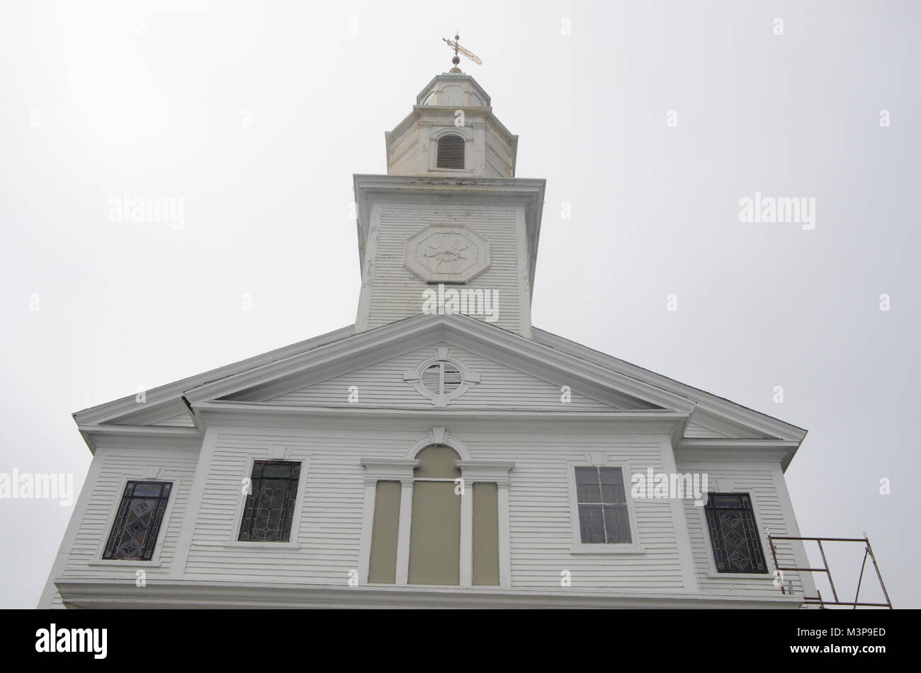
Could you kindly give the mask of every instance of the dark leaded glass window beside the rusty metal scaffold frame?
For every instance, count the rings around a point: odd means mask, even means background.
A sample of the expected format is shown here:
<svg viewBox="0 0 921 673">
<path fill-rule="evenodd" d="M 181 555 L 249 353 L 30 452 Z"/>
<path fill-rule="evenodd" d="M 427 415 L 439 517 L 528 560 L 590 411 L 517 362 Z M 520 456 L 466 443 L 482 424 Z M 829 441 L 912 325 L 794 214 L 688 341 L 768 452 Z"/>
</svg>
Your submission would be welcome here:
<svg viewBox="0 0 921 673">
<path fill-rule="evenodd" d="M 752 498 L 747 493 L 711 493 L 705 511 L 717 572 L 766 573 Z"/>
</svg>

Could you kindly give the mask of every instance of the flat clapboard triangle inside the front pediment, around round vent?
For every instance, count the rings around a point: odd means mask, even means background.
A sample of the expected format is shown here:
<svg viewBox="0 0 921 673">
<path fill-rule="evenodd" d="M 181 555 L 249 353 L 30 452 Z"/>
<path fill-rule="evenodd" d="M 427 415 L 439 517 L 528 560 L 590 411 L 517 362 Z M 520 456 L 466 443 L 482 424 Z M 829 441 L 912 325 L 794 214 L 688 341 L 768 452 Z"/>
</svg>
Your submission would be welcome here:
<svg viewBox="0 0 921 673">
<path fill-rule="evenodd" d="M 431 360 L 447 358 L 457 362 L 466 372 L 464 381 L 475 379 L 469 387 L 445 403 L 450 408 L 555 408 L 571 411 L 610 411 L 624 408 L 655 408 L 641 400 L 632 406 L 619 401 L 602 401 L 579 390 L 570 382 L 565 391 L 564 382 L 547 381 L 532 373 L 474 353 L 468 348 L 452 347 L 439 342 L 424 348 L 414 348 L 393 358 L 349 371 L 325 381 L 298 387 L 284 394 L 265 396 L 258 391 L 228 395 L 225 399 L 267 402 L 277 405 L 348 405 L 408 406 L 430 408 L 435 405 L 431 396 L 420 393 L 425 386 L 421 376 L 415 376 L 421 365 Z M 415 378 L 414 378 L 415 376 Z M 437 385 L 437 383 L 436 383 Z M 563 399 L 567 399 L 566 402 Z M 353 402 L 354 404 L 354 402 Z"/>
</svg>

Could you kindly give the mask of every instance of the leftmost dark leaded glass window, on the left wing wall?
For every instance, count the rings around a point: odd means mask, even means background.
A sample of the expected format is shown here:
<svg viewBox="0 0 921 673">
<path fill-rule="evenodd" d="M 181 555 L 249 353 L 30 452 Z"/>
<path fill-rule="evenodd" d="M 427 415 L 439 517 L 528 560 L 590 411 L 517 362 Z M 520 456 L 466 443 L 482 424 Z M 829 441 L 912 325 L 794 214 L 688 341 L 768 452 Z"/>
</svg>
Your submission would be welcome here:
<svg viewBox="0 0 921 673">
<path fill-rule="evenodd" d="M 102 558 L 151 559 L 171 488 L 168 482 L 128 482 L 125 485 Z"/>
</svg>

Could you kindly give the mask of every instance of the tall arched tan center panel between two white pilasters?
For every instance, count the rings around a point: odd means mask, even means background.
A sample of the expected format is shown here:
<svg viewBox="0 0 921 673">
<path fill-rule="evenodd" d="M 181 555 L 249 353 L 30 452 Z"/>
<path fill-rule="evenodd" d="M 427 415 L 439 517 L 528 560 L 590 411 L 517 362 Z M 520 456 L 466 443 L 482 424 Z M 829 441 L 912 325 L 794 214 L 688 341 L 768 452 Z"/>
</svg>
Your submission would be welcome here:
<svg viewBox="0 0 921 673">
<path fill-rule="evenodd" d="M 460 584 L 461 496 L 455 479 L 460 456 L 449 446 L 433 445 L 416 454 L 413 519 L 409 542 L 409 583 Z"/>
</svg>

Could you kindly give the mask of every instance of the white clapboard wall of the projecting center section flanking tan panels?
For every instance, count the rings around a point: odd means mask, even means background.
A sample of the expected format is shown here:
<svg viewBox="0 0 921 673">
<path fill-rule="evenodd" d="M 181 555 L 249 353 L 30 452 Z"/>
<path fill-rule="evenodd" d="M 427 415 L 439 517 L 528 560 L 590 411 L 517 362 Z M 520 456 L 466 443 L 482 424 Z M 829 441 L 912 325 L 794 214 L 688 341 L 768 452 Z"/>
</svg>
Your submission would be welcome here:
<svg viewBox="0 0 921 673">
<path fill-rule="evenodd" d="M 420 428 L 421 429 L 421 428 Z M 186 577 L 227 581 L 289 581 L 345 584 L 358 567 L 364 507 L 365 458 L 404 458 L 419 438 L 414 432 L 311 428 L 249 434 L 227 428 L 216 442 Z M 660 470 L 658 442 L 618 441 L 612 435 L 560 434 L 457 435 L 473 460 L 513 460 L 509 526 L 514 587 L 560 587 L 561 571 L 572 573 L 573 587 L 674 591 L 682 589 L 675 522 L 665 501 L 637 504 L 646 553 L 621 556 L 573 555 L 568 459 L 603 451 L 629 459 L 631 470 Z M 303 504 L 297 510 L 300 547 L 266 549 L 227 544 L 239 530 L 240 480 L 248 458 L 286 446 L 291 460 L 306 460 Z"/>
</svg>

